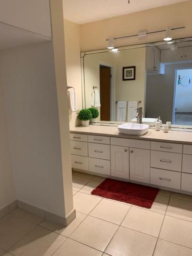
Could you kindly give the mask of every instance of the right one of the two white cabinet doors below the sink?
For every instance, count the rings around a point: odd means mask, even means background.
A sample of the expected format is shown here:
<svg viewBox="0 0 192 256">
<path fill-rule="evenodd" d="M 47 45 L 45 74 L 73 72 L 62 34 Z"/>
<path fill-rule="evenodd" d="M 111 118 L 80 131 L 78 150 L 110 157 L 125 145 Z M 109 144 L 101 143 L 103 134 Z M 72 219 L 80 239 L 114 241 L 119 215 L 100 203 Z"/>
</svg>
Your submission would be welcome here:
<svg viewBox="0 0 192 256">
<path fill-rule="evenodd" d="M 130 180 L 150 183 L 150 150 L 130 148 Z"/>
</svg>

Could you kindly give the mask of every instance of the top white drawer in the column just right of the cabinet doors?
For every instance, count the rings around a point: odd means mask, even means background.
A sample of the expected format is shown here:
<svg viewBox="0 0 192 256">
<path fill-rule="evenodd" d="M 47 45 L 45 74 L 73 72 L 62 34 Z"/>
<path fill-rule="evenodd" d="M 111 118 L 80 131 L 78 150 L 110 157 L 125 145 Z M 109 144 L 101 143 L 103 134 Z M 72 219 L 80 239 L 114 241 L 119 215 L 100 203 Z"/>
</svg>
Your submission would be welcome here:
<svg viewBox="0 0 192 256">
<path fill-rule="evenodd" d="M 151 150 L 165 151 L 165 152 L 173 152 L 173 153 L 182 153 L 183 145 L 182 144 L 174 144 L 167 142 L 151 142 Z"/>
</svg>

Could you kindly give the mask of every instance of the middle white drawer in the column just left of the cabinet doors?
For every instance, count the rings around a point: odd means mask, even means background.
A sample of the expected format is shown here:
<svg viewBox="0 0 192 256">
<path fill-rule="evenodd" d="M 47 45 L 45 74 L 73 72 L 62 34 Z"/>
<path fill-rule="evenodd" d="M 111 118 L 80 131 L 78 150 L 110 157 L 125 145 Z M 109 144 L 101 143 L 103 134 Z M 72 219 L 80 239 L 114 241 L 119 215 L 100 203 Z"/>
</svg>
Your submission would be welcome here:
<svg viewBox="0 0 192 256">
<path fill-rule="evenodd" d="M 110 145 L 88 143 L 89 157 L 110 160 Z"/>
</svg>

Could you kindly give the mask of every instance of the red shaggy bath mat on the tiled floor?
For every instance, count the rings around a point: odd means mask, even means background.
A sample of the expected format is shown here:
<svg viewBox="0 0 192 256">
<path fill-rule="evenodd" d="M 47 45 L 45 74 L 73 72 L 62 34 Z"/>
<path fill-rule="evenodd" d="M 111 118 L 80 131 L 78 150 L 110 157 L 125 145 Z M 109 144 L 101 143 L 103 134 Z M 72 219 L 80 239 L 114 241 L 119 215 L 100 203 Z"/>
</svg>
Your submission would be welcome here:
<svg viewBox="0 0 192 256">
<path fill-rule="evenodd" d="M 106 179 L 91 194 L 150 209 L 158 191 L 154 187 Z"/>
</svg>

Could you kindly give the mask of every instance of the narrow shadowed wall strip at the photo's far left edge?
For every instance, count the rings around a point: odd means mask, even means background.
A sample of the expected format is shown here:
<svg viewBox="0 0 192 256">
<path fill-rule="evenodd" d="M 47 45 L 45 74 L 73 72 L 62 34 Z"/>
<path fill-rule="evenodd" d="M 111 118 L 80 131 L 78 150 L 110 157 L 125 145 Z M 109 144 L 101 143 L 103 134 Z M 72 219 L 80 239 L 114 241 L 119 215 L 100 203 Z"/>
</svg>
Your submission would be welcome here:
<svg viewBox="0 0 192 256">
<path fill-rule="evenodd" d="M 0 70 L 0 210 L 16 200 L 4 90 Z"/>
</svg>

